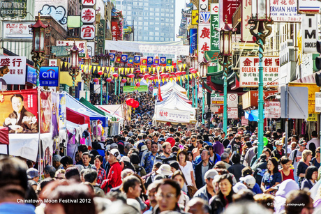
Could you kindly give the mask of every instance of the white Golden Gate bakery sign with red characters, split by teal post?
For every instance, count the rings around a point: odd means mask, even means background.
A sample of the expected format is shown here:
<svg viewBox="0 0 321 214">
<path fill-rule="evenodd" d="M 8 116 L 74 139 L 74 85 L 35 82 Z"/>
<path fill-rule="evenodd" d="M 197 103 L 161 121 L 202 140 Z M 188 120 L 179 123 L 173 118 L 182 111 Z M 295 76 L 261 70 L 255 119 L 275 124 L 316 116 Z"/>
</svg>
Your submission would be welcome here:
<svg viewBox="0 0 321 214">
<path fill-rule="evenodd" d="M 257 56 L 241 56 L 239 58 L 239 86 L 258 87 L 259 82 L 259 58 Z M 263 82 L 264 85 L 277 86 L 278 68 L 280 59 L 278 56 L 263 57 Z"/>
</svg>

